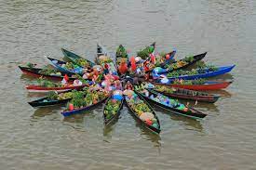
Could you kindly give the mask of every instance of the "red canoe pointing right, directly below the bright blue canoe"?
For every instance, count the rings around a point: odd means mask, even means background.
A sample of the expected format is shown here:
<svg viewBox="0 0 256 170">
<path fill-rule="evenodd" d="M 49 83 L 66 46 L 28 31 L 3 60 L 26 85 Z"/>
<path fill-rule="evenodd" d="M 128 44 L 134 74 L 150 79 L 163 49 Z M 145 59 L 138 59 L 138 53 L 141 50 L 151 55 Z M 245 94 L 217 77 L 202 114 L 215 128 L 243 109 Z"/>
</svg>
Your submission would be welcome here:
<svg viewBox="0 0 256 170">
<path fill-rule="evenodd" d="M 153 83 L 155 85 L 167 85 L 173 87 L 179 87 L 189 90 L 220 90 L 226 88 L 228 85 L 232 84 L 233 81 L 208 81 L 202 85 L 173 85 L 173 84 L 161 84 Z M 152 82 L 151 82 L 152 83 Z"/>
</svg>

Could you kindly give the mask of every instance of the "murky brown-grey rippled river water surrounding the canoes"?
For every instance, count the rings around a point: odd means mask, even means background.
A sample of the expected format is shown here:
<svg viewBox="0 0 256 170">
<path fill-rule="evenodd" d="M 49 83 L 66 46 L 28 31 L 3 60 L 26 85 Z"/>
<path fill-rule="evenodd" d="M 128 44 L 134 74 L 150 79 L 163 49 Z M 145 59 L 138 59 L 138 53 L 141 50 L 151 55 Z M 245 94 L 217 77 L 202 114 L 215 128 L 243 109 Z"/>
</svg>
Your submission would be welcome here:
<svg viewBox="0 0 256 170">
<path fill-rule="evenodd" d="M 256 1 L 0 1 L 0 169 L 255 169 Z M 144 131 L 124 107 L 104 129 L 102 106 L 61 116 L 34 110 L 18 65 L 61 59 L 61 47 L 93 59 L 96 43 L 131 52 L 156 41 L 177 58 L 208 51 L 206 61 L 236 64 L 209 114 L 195 121 L 155 108 L 162 132 Z M 193 102 L 192 102 L 193 103 Z"/>
</svg>

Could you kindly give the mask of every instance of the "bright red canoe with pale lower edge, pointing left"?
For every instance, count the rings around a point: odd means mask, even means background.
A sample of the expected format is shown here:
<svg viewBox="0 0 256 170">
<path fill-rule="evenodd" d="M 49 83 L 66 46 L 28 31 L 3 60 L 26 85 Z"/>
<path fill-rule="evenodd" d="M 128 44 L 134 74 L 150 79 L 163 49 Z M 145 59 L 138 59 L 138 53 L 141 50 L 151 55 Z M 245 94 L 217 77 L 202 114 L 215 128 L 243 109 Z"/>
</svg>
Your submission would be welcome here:
<svg viewBox="0 0 256 170">
<path fill-rule="evenodd" d="M 64 92 L 64 91 L 68 91 L 68 90 L 81 89 L 85 86 L 87 86 L 87 85 L 78 85 L 78 86 L 67 85 L 67 86 L 61 86 L 61 87 L 45 87 L 45 86 L 41 86 L 41 85 L 27 85 L 26 89 L 29 92 L 47 93 L 49 91 Z"/>
</svg>

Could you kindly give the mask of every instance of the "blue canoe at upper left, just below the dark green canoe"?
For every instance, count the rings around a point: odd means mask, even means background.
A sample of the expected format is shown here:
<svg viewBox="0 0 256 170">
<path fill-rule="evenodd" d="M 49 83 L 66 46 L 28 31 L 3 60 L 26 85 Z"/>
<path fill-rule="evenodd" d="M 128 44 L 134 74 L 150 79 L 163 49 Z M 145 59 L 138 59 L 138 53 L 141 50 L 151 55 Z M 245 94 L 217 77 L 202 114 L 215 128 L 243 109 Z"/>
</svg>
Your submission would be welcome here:
<svg viewBox="0 0 256 170">
<path fill-rule="evenodd" d="M 47 58 L 50 61 L 50 64 L 55 67 L 57 70 L 59 70 L 60 72 L 66 72 L 66 73 L 78 73 L 78 74 L 83 74 L 83 70 L 84 68 L 82 67 L 77 67 L 74 70 L 68 70 L 66 68 L 61 67 L 62 64 L 66 64 L 67 62 L 59 60 L 59 59 L 52 59 L 52 58 Z"/>
</svg>

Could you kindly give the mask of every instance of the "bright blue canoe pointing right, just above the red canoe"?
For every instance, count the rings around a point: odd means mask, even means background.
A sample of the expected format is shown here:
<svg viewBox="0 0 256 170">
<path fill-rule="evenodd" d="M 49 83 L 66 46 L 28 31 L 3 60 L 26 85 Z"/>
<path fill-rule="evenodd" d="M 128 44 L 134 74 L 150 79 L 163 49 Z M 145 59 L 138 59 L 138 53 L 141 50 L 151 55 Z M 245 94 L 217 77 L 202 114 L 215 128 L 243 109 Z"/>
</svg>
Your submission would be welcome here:
<svg viewBox="0 0 256 170">
<path fill-rule="evenodd" d="M 235 66 L 236 65 L 219 67 L 217 71 L 213 71 L 213 72 L 209 72 L 209 69 L 205 69 L 203 71 L 206 73 L 200 73 L 200 74 L 195 74 L 195 75 L 181 75 L 181 76 L 177 76 L 177 77 L 168 77 L 168 80 L 169 81 L 175 80 L 175 79 L 195 80 L 195 79 L 200 79 L 200 78 L 214 77 L 217 75 L 222 75 L 227 72 L 231 72 Z M 154 79 L 159 79 L 160 75 L 167 76 L 167 73 L 164 73 L 164 74 L 153 73 Z"/>
</svg>

